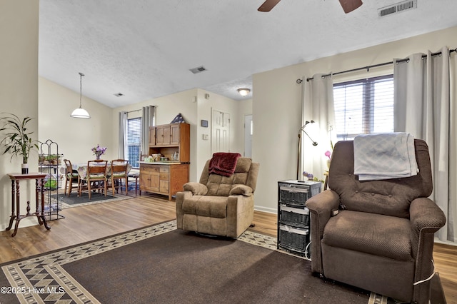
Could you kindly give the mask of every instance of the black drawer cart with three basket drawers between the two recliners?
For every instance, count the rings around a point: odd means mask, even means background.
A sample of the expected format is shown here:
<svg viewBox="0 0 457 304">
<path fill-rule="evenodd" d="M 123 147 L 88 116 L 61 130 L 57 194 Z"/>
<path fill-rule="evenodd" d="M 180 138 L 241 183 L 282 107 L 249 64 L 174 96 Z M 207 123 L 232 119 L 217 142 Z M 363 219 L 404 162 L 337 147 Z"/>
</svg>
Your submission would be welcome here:
<svg viewBox="0 0 457 304">
<path fill-rule="evenodd" d="M 278 249 L 306 255 L 310 216 L 305 203 L 321 188 L 319 181 L 278 181 Z"/>
</svg>

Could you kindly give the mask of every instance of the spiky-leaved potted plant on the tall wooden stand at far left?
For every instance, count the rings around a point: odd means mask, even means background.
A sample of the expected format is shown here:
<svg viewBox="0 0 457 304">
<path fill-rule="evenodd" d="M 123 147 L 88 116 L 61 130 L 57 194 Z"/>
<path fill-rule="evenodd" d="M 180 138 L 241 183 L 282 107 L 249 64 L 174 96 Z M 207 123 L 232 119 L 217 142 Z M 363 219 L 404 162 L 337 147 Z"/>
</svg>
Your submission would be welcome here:
<svg viewBox="0 0 457 304">
<path fill-rule="evenodd" d="M 27 123 L 32 118 L 29 116 L 21 120 L 18 116 L 11 113 L 2 113 L 4 116 L 0 117 L 2 127 L 0 131 L 5 131 L 5 137 L 0 141 L 4 145 L 3 154 L 7 152 L 13 156 L 22 156 L 22 173 L 29 173 L 30 152 L 36 149 L 38 151 L 38 141 L 31 138 L 32 131 L 27 130 Z"/>
</svg>

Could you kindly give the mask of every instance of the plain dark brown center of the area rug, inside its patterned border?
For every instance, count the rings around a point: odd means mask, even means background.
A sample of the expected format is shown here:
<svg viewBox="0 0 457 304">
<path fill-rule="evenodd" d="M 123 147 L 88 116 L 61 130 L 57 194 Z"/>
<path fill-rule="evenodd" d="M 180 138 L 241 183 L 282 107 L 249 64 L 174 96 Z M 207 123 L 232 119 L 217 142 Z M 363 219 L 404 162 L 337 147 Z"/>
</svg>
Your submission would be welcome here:
<svg viewBox="0 0 457 304">
<path fill-rule="evenodd" d="M 101 303 L 368 303 L 311 263 L 239 240 L 174 230 L 64 265 Z"/>
</svg>

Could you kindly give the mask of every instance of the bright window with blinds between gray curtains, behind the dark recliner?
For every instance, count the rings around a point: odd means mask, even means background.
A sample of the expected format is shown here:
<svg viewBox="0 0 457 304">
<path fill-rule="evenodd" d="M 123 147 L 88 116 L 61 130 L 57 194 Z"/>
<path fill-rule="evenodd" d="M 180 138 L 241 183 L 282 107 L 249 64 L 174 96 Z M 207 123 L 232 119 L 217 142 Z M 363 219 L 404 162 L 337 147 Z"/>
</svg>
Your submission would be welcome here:
<svg viewBox="0 0 457 304">
<path fill-rule="evenodd" d="M 393 75 L 335 83 L 336 138 L 393 132 Z"/>
</svg>

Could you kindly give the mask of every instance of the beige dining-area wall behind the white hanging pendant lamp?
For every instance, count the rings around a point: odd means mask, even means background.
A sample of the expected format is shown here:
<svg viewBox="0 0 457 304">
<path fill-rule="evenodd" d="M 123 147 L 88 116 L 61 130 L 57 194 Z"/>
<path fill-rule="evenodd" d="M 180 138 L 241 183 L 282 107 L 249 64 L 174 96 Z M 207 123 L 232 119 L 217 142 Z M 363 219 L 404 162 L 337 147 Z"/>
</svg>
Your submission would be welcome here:
<svg viewBox="0 0 457 304">
<path fill-rule="evenodd" d="M 77 81 L 79 76 L 76 76 Z M 81 101 L 91 118 L 70 117 L 71 112 L 79 107 L 79 92 L 39 77 L 39 141 L 51 139 L 57 143 L 59 154 L 64 154 L 64 158 L 71 163 L 94 159 L 91 148 L 97 144 L 108 148 L 102 158 L 117 158 L 118 147 L 114 145 L 112 136 L 113 109 L 85 96 Z M 43 148 L 46 153 L 46 146 Z M 51 152 L 54 153 L 54 149 Z"/>
</svg>

